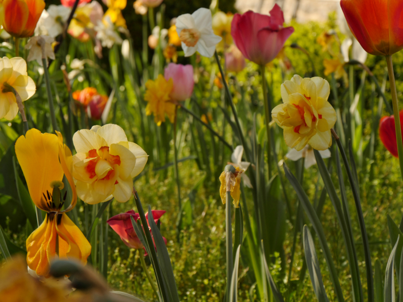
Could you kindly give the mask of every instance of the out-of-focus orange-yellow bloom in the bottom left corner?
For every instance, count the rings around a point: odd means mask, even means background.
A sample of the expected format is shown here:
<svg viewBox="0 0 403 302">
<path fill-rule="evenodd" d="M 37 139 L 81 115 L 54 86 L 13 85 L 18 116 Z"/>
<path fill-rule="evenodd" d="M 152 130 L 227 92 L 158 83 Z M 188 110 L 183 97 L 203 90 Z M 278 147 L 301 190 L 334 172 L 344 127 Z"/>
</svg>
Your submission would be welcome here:
<svg viewBox="0 0 403 302">
<path fill-rule="evenodd" d="M 22 256 L 5 262 L 0 268 L 0 297 L 7 302 L 74 302 L 57 281 L 41 282 L 27 273 L 27 264 Z"/>
</svg>

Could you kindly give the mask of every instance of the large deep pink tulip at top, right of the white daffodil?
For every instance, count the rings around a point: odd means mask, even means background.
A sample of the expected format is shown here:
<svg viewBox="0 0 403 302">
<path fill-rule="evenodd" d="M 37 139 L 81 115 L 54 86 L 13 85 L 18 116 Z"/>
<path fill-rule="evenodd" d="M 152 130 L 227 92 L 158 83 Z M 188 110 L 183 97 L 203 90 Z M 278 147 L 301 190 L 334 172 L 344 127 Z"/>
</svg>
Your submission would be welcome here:
<svg viewBox="0 0 403 302">
<path fill-rule="evenodd" d="M 252 62 L 265 65 L 271 62 L 294 32 L 293 27 L 283 27 L 284 16 L 275 4 L 270 16 L 252 11 L 235 14 L 231 23 L 231 35 L 235 45 Z"/>
</svg>

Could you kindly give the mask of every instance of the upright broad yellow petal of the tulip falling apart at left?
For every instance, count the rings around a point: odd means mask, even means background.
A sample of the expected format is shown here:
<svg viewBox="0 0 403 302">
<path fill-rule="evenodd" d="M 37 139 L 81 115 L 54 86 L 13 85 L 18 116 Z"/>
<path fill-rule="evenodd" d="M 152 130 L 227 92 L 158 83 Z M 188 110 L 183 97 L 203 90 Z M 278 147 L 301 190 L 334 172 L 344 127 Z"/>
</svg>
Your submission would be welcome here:
<svg viewBox="0 0 403 302">
<path fill-rule="evenodd" d="M 22 135 L 17 139 L 15 149 L 32 201 L 40 209 L 48 210 L 42 194 L 51 193 L 50 183 L 61 181 L 64 174 L 59 162 L 57 136 L 30 129 L 25 137 Z"/>
</svg>

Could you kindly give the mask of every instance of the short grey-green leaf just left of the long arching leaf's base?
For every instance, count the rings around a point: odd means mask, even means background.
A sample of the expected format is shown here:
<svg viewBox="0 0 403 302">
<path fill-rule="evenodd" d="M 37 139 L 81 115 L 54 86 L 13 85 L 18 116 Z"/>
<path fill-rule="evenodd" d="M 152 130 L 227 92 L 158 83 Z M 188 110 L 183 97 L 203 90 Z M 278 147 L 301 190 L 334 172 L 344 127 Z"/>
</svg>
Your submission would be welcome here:
<svg viewBox="0 0 403 302">
<path fill-rule="evenodd" d="M 304 252 L 309 275 L 311 276 L 313 291 L 315 292 L 319 302 L 328 302 L 329 299 L 327 298 L 327 294 L 324 289 L 315 245 L 313 243 L 312 235 L 309 232 L 309 228 L 306 225 L 304 225 Z"/>
</svg>

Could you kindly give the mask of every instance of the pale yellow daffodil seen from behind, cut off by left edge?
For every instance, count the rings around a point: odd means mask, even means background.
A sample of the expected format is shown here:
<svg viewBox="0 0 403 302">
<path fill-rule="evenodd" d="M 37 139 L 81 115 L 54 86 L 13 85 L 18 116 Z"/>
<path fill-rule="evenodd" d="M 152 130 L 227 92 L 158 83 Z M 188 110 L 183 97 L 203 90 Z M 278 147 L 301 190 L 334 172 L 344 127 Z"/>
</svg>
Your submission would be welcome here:
<svg viewBox="0 0 403 302">
<path fill-rule="evenodd" d="M 12 120 L 18 113 L 15 92 L 21 101 L 35 94 L 35 82 L 28 77 L 27 62 L 20 57 L 0 58 L 0 118 Z"/>
</svg>

